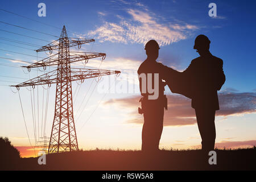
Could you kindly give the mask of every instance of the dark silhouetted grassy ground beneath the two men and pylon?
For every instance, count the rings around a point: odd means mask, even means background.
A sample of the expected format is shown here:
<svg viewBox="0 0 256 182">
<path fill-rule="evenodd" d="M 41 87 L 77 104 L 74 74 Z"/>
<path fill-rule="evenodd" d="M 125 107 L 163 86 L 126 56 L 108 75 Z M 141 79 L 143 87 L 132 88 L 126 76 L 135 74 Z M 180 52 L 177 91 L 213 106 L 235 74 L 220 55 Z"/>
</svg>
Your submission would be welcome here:
<svg viewBox="0 0 256 182">
<path fill-rule="evenodd" d="M 256 170 L 256 148 L 216 150 L 217 165 L 200 150 L 167 151 L 154 154 L 142 151 L 94 150 L 64 152 L 38 158 L 22 158 L 8 168 L 18 170 Z"/>
</svg>

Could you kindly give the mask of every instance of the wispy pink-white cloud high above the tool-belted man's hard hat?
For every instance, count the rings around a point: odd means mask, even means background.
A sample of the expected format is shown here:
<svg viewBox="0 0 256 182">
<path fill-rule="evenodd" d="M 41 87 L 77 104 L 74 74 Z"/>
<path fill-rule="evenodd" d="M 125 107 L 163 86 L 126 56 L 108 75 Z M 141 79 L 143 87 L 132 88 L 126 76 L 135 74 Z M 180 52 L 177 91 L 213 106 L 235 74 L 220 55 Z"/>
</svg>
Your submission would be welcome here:
<svg viewBox="0 0 256 182">
<path fill-rule="evenodd" d="M 141 3 L 137 6 L 143 7 Z M 192 31 L 199 27 L 188 23 L 162 23 L 160 16 L 143 7 L 139 9 L 126 9 L 129 18 L 116 15 L 118 23 L 105 21 L 96 30 L 90 31 L 88 36 L 96 36 L 100 42 L 110 41 L 113 43 L 139 43 L 146 44 L 148 40 L 155 39 L 160 46 L 187 39 Z"/>
</svg>

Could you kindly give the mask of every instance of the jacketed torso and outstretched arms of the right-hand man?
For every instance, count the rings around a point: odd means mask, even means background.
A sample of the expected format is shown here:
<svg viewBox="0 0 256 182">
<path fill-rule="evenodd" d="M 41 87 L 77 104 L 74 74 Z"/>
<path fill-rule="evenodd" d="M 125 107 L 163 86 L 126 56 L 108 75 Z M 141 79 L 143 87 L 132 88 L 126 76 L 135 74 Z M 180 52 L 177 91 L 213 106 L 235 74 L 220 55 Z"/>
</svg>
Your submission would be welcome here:
<svg viewBox="0 0 256 182">
<path fill-rule="evenodd" d="M 225 82 L 222 66 L 223 61 L 209 53 L 193 59 L 184 72 L 168 68 L 167 84 L 172 92 L 191 98 L 193 108 L 218 110 L 217 90 Z"/>
</svg>

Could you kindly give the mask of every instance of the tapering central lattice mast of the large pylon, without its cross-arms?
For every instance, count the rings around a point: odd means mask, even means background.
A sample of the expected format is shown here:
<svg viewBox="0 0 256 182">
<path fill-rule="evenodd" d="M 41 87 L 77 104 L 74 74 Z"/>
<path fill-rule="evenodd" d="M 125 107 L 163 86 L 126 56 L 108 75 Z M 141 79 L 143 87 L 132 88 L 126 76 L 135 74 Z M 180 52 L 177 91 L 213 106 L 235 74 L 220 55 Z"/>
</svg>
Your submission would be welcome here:
<svg viewBox="0 0 256 182">
<path fill-rule="evenodd" d="M 65 151 L 66 148 L 70 151 L 79 149 L 73 117 L 69 42 L 65 27 L 63 27 L 59 41 L 55 114 L 48 149 L 50 153 L 51 151 L 59 152 L 61 149 Z"/>
</svg>

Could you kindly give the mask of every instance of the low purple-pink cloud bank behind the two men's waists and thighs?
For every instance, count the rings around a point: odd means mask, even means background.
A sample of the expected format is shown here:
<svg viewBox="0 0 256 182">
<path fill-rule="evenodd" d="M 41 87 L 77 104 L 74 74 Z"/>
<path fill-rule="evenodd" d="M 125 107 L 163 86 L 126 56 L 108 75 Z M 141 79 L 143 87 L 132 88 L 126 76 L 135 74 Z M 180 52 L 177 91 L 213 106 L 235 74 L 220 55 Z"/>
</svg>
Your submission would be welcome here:
<svg viewBox="0 0 256 182">
<path fill-rule="evenodd" d="M 143 118 L 138 114 L 138 102 L 141 96 L 113 99 L 105 104 L 115 104 L 133 110 L 130 113 L 129 123 L 143 123 Z M 169 95 L 168 111 L 164 113 L 165 126 L 184 126 L 196 123 L 195 110 L 191 108 L 191 100 L 179 95 Z M 217 116 L 240 115 L 256 112 L 256 93 L 220 93 L 220 110 Z"/>
</svg>

